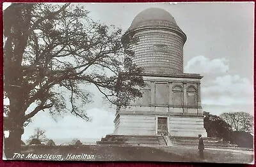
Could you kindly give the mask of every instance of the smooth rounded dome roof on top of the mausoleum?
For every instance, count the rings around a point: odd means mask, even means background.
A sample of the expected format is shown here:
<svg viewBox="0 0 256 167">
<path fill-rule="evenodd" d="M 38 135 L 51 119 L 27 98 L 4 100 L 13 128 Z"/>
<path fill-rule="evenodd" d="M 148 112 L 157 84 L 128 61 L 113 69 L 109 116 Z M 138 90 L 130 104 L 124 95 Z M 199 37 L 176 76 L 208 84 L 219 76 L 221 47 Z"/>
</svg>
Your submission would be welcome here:
<svg viewBox="0 0 256 167">
<path fill-rule="evenodd" d="M 176 21 L 168 11 L 161 8 L 148 8 L 141 11 L 132 21 L 129 30 L 140 27 L 177 27 Z"/>
</svg>

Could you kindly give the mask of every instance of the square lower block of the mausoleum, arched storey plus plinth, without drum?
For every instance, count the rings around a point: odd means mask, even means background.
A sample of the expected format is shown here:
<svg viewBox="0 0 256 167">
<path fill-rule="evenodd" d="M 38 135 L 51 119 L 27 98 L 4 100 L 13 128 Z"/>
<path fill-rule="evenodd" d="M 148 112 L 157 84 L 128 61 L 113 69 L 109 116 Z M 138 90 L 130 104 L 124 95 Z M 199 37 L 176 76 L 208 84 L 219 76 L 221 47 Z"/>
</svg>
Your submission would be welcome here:
<svg viewBox="0 0 256 167">
<path fill-rule="evenodd" d="M 183 75 L 182 78 L 143 76 L 146 83 L 143 98 L 118 110 L 114 134 L 157 135 L 157 118 L 166 117 L 171 136 L 202 134 L 206 137 L 200 99 L 201 77 Z M 179 92 L 180 105 L 174 103 L 175 92 Z M 189 93 L 195 95 L 195 105 L 189 106 Z"/>
</svg>

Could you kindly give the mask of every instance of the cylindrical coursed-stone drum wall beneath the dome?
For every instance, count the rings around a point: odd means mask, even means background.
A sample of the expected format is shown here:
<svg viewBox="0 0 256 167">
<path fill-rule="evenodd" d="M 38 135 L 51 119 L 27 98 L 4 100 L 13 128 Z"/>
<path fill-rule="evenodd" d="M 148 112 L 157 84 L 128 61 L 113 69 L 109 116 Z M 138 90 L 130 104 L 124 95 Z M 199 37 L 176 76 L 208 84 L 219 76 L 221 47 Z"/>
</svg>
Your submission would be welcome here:
<svg viewBox="0 0 256 167">
<path fill-rule="evenodd" d="M 183 73 L 182 38 L 171 31 L 148 29 L 136 33 L 139 41 L 132 46 L 134 63 L 145 69 L 145 73 Z"/>
</svg>

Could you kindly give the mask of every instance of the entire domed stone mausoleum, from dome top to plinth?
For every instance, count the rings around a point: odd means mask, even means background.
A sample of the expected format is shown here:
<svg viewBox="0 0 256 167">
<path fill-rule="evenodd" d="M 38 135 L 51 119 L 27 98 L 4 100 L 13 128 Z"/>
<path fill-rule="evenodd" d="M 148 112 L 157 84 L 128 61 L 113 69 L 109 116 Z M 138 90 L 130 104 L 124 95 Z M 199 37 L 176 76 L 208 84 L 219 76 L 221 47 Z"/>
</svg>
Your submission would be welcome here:
<svg viewBox="0 0 256 167">
<path fill-rule="evenodd" d="M 186 34 L 167 11 L 149 8 L 132 21 L 134 63 L 145 69 L 143 98 L 116 112 L 114 135 L 196 137 L 204 129 L 199 74 L 183 73 Z"/>
</svg>

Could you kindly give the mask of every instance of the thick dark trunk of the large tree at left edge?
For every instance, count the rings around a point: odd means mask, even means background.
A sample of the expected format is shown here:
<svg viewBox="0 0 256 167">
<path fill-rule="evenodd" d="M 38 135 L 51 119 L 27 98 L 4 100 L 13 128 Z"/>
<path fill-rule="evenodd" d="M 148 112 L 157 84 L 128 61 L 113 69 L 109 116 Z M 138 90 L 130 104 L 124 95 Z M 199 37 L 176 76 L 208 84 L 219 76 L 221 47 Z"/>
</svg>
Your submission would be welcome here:
<svg viewBox="0 0 256 167">
<path fill-rule="evenodd" d="M 31 27 L 31 11 L 34 4 L 11 4 L 4 10 L 4 91 L 10 99 L 8 113 L 9 137 L 4 139 L 6 158 L 12 159 L 13 153 L 20 153 L 21 135 L 24 132 L 25 111 L 28 108 L 29 91 L 26 80 L 22 78 L 22 59 Z M 6 125 L 4 123 L 4 125 Z"/>
</svg>

